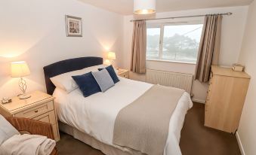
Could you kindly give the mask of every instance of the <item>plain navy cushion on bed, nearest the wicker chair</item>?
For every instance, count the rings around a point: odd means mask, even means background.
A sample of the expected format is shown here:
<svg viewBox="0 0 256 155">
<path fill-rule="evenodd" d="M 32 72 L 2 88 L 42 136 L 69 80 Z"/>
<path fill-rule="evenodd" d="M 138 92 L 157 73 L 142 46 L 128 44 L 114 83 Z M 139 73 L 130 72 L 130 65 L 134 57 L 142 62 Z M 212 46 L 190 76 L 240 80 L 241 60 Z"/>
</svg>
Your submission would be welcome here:
<svg viewBox="0 0 256 155">
<path fill-rule="evenodd" d="M 100 92 L 100 87 L 97 84 L 97 81 L 95 80 L 94 76 L 91 74 L 91 72 L 72 76 L 74 81 L 76 81 L 76 84 L 79 85 L 79 89 L 82 91 L 82 94 L 85 97 L 91 96 L 94 93 Z"/>
</svg>

